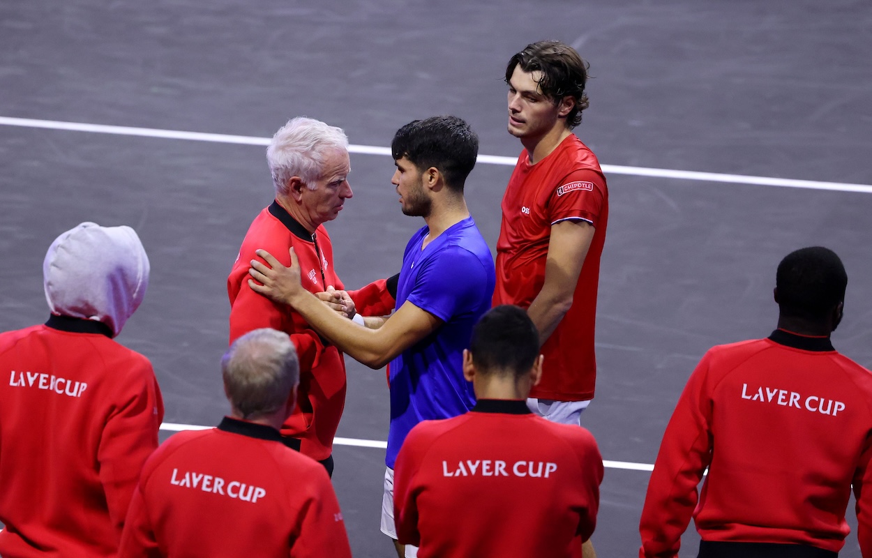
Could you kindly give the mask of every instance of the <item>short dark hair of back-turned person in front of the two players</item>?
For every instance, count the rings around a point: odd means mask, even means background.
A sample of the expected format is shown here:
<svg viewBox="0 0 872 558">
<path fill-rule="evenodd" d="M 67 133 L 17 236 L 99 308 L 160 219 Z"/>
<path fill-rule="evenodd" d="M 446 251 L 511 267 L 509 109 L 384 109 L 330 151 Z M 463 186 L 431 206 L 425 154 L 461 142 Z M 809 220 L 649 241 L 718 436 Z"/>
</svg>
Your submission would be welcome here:
<svg viewBox="0 0 872 558">
<path fill-rule="evenodd" d="M 518 378 L 539 357 L 539 331 L 526 311 L 510 304 L 496 306 L 475 324 L 469 352 L 476 371 Z"/>
</svg>

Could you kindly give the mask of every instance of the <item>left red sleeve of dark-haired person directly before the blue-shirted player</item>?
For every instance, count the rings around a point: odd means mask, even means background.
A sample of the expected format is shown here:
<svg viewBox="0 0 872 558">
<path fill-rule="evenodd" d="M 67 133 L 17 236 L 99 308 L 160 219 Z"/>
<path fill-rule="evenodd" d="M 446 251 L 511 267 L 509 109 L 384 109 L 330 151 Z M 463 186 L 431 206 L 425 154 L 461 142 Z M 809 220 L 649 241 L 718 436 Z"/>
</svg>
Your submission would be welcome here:
<svg viewBox="0 0 872 558">
<path fill-rule="evenodd" d="M 415 473 L 419 471 L 420 458 L 423 455 L 419 450 L 420 438 L 418 425 L 412 428 L 412 432 L 403 441 L 403 446 L 399 448 L 393 470 L 393 522 L 397 529 L 397 540 L 401 544 L 416 547 L 420 546 L 421 541 L 416 501 L 419 487 L 414 484 Z"/>
</svg>

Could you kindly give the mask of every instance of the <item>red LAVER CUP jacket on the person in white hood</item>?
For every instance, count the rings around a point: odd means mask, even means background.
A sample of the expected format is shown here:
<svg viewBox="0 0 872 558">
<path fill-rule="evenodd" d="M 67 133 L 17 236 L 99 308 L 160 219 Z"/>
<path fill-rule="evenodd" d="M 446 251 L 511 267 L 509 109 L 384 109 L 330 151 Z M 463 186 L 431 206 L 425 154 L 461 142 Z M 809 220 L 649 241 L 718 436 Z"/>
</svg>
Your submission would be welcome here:
<svg viewBox="0 0 872 558">
<path fill-rule="evenodd" d="M 163 402 L 146 357 L 102 323 L 0 334 L 0 555 L 115 556 Z"/>
</svg>

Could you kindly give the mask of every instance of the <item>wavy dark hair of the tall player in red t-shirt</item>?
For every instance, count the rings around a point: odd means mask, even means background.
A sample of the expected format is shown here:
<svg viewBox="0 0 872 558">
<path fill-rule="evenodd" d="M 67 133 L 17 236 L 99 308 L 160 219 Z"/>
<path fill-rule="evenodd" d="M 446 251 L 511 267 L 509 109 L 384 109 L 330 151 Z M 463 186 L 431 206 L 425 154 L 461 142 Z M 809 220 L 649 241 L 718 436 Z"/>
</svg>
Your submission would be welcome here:
<svg viewBox="0 0 872 558">
<path fill-rule="evenodd" d="M 506 83 L 512 78 L 514 67 L 521 65 L 521 70 L 528 73 L 541 71 L 539 89 L 549 97 L 555 105 L 564 97 L 575 99 L 566 117 L 566 125 L 572 129 L 582 123 L 582 111 L 590 103 L 584 92 L 588 83 L 590 65 L 579 56 L 576 49 L 561 41 L 539 41 L 528 44 L 523 51 L 515 54 L 506 66 Z"/>
</svg>

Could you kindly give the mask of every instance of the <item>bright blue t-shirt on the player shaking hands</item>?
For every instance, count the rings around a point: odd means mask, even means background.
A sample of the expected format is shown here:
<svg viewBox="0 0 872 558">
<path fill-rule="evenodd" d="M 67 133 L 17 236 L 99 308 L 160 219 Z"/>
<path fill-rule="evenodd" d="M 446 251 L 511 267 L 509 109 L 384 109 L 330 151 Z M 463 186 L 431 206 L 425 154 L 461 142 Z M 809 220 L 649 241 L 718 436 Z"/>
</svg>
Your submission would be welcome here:
<svg viewBox="0 0 872 558">
<path fill-rule="evenodd" d="M 422 250 L 428 232 L 421 228 L 405 247 L 396 308 L 409 301 L 444 323 L 391 361 L 391 430 L 385 459 L 391 468 L 414 425 L 456 417 L 475 405 L 473 384 L 463 378 L 463 350 L 494 296 L 494 257 L 472 217 L 454 224 Z"/>
</svg>

